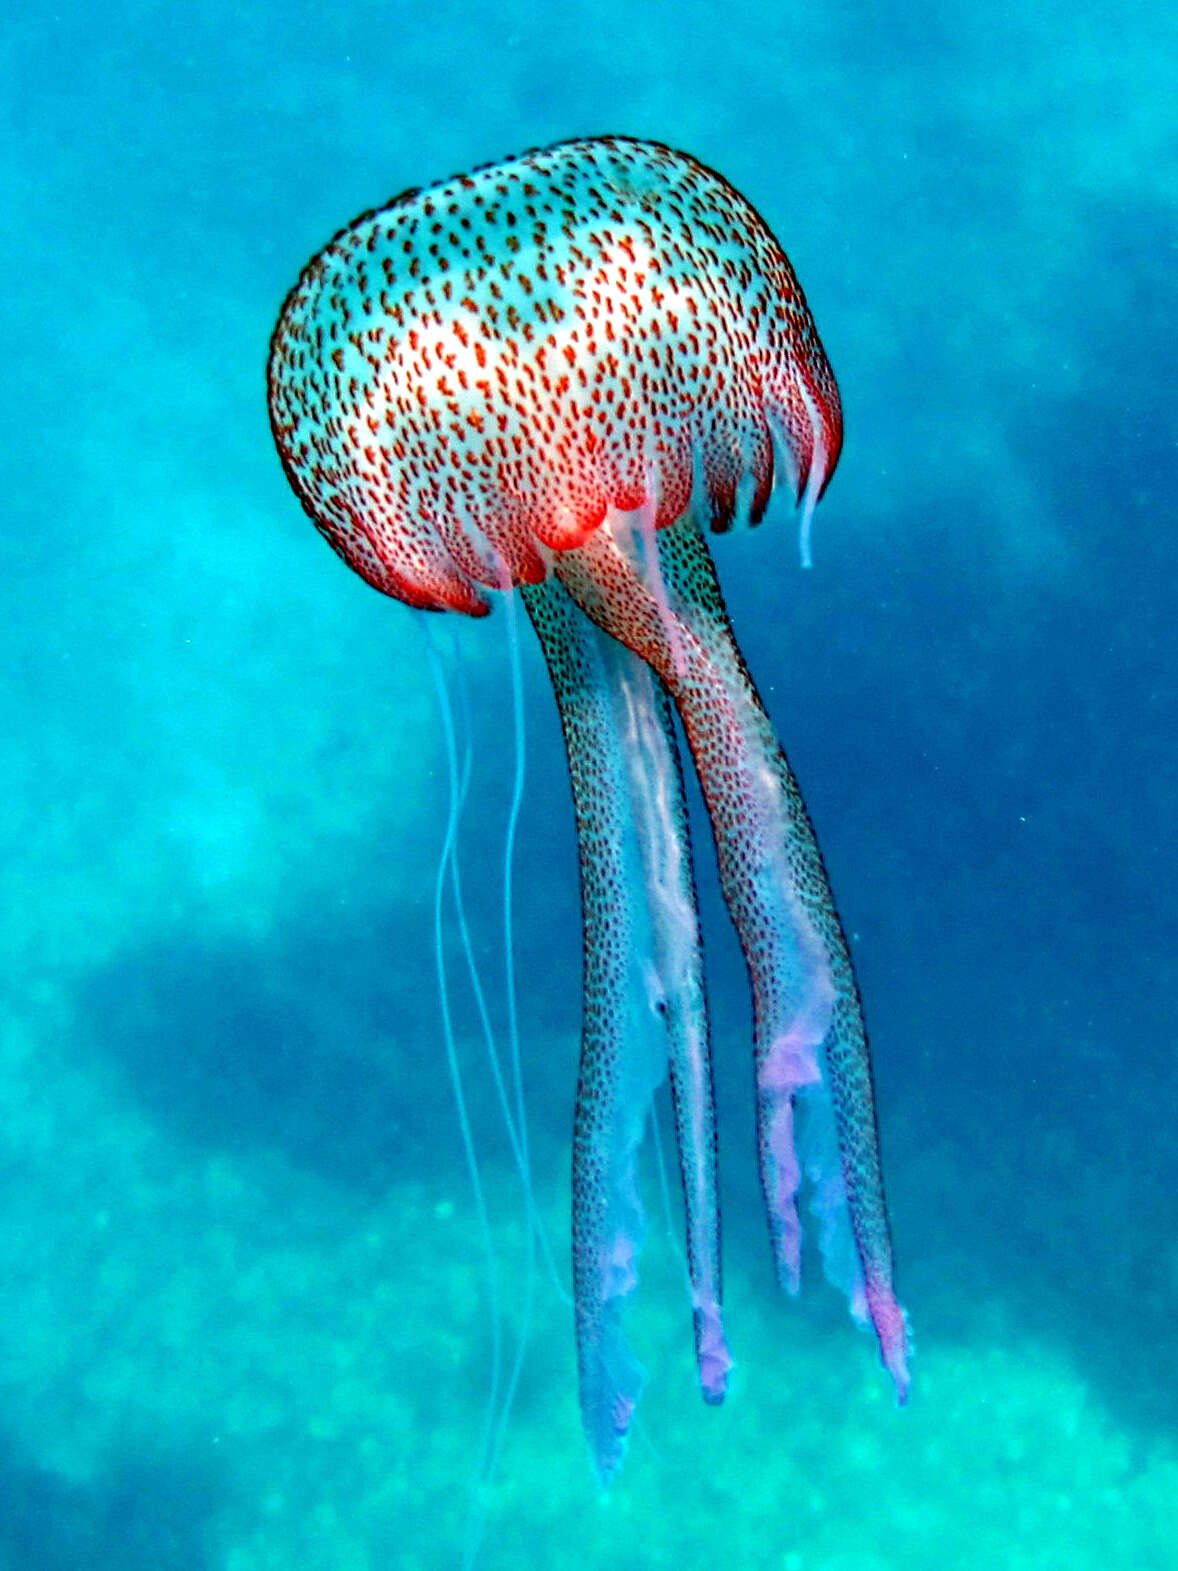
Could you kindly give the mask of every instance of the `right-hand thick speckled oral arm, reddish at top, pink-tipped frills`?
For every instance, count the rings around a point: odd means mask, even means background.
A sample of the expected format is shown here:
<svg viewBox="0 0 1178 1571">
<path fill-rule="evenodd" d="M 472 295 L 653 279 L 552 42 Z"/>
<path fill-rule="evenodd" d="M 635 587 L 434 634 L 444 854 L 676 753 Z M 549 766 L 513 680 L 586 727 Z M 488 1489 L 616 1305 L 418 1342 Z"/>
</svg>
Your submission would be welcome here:
<svg viewBox="0 0 1178 1571">
<path fill-rule="evenodd" d="M 856 1318 L 875 1326 L 903 1401 L 908 1331 L 892 1287 L 867 1034 L 847 939 L 697 522 L 686 515 L 661 529 L 658 545 L 658 597 L 619 517 L 558 558 L 556 570 L 600 627 L 650 663 L 683 721 L 749 971 L 757 1148 L 779 1276 L 796 1290 L 804 1170 L 826 1271 Z"/>
</svg>

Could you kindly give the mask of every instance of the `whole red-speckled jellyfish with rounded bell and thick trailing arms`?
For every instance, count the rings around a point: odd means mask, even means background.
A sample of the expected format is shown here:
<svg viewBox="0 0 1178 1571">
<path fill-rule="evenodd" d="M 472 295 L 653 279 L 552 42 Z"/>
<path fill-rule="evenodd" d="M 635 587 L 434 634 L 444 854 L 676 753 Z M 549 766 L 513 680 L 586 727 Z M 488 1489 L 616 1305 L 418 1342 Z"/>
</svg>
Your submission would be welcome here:
<svg viewBox="0 0 1178 1571">
<path fill-rule="evenodd" d="M 839 390 L 781 245 L 723 176 L 660 143 L 531 151 L 341 229 L 283 305 L 269 405 L 298 501 L 369 584 L 474 617 L 518 592 L 539 635 L 580 845 L 573 1318 L 600 1478 L 642 1382 L 624 1306 L 638 1152 L 664 1082 L 707 1401 L 732 1364 L 680 735 L 748 968 L 777 1274 L 796 1293 L 804 1191 L 826 1274 L 903 1403 L 908 1326 L 851 955 L 707 545 L 759 523 L 781 482 L 809 561 L 839 460 Z"/>
</svg>

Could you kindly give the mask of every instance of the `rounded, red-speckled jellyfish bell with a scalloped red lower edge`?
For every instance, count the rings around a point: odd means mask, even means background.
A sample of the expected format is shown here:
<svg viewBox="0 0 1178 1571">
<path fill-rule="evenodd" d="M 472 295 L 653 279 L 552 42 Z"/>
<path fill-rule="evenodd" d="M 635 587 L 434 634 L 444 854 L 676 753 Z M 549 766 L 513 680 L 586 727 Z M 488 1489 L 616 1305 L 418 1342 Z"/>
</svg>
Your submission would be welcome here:
<svg viewBox="0 0 1178 1571">
<path fill-rule="evenodd" d="M 295 492 L 364 577 L 474 610 L 545 577 L 609 507 L 657 526 L 696 481 L 710 523 L 768 501 L 774 445 L 814 500 L 839 393 L 757 212 L 683 154 L 622 138 L 492 165 L 341 231 L 273 339 L 270 410 Z M 702 498 L 701 498 L 702 500 Z M 396 592 L 396 591 L 391 591 Z"/>
</svg>

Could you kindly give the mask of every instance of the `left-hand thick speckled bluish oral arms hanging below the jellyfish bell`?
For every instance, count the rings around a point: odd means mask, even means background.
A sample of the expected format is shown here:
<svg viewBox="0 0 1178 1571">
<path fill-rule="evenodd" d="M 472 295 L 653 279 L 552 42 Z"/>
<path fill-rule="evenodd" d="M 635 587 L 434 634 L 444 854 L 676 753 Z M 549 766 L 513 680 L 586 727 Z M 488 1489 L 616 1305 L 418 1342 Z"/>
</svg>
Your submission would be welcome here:
<svg viewBox="0 0 1178 1571">
<path fill-rule="evenodd" d="M 523 591 L 569 751 L 584 908 L 573 1131 L 573 1288 L 581 1411 L 616 1472 L 642 1382 L 620 1323 L 642 1235 L 636 1155 L 671 1076 L 704 1395 L 724 1395 L 716 1123 L 691 847 L 671 704 L 658 677 L 559 586 Z"/>
</svg>

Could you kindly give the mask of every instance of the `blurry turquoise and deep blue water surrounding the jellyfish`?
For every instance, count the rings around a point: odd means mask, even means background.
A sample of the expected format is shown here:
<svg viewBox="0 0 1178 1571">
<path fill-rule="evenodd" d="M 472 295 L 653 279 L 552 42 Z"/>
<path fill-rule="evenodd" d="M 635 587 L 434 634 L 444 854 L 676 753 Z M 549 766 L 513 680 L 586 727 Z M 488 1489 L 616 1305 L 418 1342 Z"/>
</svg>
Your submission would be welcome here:
<svg viewBox="0 0 1178 1571">
<path fill-rule="evenodd" d="M 840 379 L 814 570 L 781 503 L 716 555 L 853 933 L 916 1384 L 897 1412 L 820 1274 L 771 1280 L 705 878 L 738 1376 L 704 1409 L 652 1167 L 606 1499 L 457 1005 L 528 1329 L 479 1565 L 1173 1566 L 1176 49 L 1164 8 L 1038 0 L 9 16 L 5 1571 L 470 1551 L 490 1324 L 432 969 L 441 724 L 421 627 L 294 503 L 262 369 L 353 214 L 600 130 L 748 193 Z M 435 636 L 503 1035 L 509 619 Z M 564 1271 L 576 864 L 523 665 L 515 974 Z"/>
</svg>

